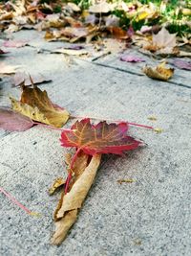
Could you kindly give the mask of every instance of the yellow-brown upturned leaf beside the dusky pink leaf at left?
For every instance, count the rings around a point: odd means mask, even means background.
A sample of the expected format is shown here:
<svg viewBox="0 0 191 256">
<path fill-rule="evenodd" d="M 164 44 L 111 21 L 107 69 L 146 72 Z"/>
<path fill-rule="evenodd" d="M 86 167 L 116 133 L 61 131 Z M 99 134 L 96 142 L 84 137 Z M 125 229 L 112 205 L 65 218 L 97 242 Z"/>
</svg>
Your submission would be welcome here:
<svg viewBox="0 0 191 256">
<path fill-rule="evenodd" d="M 33 88 L 23 86 L 21 100 L 11 98 L 12 109 L 55 128 L 61 128 L 69 119 L 69 112 L 53 105 L 46 91 L 41 91 L 37 86 Z"/>
</svg>

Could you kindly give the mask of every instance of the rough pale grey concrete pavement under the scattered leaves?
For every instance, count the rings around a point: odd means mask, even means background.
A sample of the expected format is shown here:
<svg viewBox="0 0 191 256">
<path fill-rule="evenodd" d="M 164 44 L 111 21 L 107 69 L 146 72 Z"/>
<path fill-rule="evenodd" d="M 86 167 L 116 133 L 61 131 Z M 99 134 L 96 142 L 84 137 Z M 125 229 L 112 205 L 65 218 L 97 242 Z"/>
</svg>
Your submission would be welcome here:
<svg viewBox="0 0 191 256">
<path fill-rule="evenodd" d="M 30 38 L 33 46 L 11 49 L 4 61 L 22 65 L 19 71 L 37 69 L 49 75 L 53 82 L 40 87 L 56 104 L 74 115 L 123 119 L 164 131 L 131 128 L 130 134 L 148 146 L 123 157 L 103 156 L 78 221 L 58 247 L 50 244 L 50 236 L 59 194 L 49 197 L 47 190 L 64 174 L 67 150 L 60 147 L 59 131 L 40 126 L 25 132 L 1 131 L 1 186 L 42 214 L 28 216 L 0 195 L 1 255 L 191 255 L 190 73 L 176 69 L 171 81 L 154 81 L 142 75 L 144 63 L 120 62 L 117 55 L 96 61 L 75 58 L 68 66 L 62 55 L 37 53 L 37 48 L 52 49 L 56 44 L 48 45 L 42 34 L 25 31 L 13 36 Z M 0 84 L 0 105 L 9 105 L 9 93 L 19 97 L 11 78 Z M 149 121 L 150 115 L 158 121 Z M 120 178 L 135 182 L 120 185 Z"/>
</svg>

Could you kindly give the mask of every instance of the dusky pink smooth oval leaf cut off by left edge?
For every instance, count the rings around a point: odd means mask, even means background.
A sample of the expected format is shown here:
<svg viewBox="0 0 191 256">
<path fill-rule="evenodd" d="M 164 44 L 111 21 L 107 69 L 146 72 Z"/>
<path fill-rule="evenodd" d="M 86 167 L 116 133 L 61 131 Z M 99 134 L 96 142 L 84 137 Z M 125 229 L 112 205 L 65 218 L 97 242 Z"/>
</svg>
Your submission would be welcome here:
<svg viewBox="0 0 191 256">
<path fill-rule="evenodd" d="M 32 128 L 30 118 L 12 111 L 10 108 L 0 108 L 0 128 L 10 131 L 24 131 Z"/>
</svg>

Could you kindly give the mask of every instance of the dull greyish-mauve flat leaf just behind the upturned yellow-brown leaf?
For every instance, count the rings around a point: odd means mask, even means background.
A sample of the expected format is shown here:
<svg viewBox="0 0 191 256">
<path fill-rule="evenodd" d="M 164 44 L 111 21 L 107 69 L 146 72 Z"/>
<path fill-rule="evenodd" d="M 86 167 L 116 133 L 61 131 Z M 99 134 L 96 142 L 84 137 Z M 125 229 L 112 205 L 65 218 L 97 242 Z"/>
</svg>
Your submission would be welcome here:
<svg viewBox="0 0 191 256">
<path fill-rule="evenodd" d="M 27 75 L 24 72 L 18 72 L 16 73 L 13 78 L 12 78 L 12 83 L 14 86 L 19 86 L 21 84 L 24 84 L 26 86 L 30 86 L 32 84 L 38 84 L 42 82 L 49 82 L 52 81 L 50 79 L 46 79 L 43 75 L 41 74 L 36 74 L 36 75 Z"/>
</svg>

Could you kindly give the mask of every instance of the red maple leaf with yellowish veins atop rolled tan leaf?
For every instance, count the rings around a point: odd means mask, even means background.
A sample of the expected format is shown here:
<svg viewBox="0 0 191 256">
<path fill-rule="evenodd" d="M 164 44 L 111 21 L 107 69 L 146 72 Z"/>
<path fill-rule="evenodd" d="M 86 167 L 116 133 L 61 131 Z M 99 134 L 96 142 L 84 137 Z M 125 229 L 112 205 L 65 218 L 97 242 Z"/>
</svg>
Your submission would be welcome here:
<svg viewBox="0 0 191 256">
<path fill-rule="evenodd" d="M 105 121 L 93 125 L 89 118 L 76 121 L 71 130 L 61 133 L 61 145 L 74 147 L 85 153 L 121 154 L 123 151 L 135 150 L 142 142 L 127 136 L 128 124 L 107 124 Z"/>
</svg>

